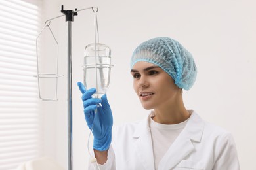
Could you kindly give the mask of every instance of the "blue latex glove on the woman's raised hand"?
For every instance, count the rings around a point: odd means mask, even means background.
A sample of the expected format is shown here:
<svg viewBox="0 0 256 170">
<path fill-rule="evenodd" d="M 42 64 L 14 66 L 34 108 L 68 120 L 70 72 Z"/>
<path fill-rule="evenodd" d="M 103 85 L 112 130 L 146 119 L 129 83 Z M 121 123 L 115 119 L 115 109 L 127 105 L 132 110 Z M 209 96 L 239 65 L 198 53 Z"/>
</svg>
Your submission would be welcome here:
<svg viewBox="0 0 256 170">
<path fill-rule="evenodd" d="M 100 151 L 108 150 L 112 138 L 113 117 L 106 94 L 101 99 L 92 98 L 91 96 L 96 92 L 95 88 L 85 90 L 85 86 L 81 82 L 78 82 L 77 85 L 83 93 L 85 120 L 89 129 L 93 128 L 93 148 Z M 99 103 L 101 106 L 98 105 Z M 96 113 L 95 109 L 97 109 Z"/>
</svg>

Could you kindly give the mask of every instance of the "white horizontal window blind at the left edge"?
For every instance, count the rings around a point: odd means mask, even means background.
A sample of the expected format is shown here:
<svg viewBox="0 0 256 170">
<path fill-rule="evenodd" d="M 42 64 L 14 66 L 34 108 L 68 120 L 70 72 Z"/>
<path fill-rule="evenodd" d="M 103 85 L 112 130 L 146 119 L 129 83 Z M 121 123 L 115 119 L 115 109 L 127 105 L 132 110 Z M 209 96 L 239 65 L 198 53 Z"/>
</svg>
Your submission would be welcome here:
<svg viewBox="0 0 256 170">
<path fill-rule="evenodd" d="M 35 39 L 39 1 L 0 1 L 0 170 L 41 155 L 43 148 Z"/>
</svg>

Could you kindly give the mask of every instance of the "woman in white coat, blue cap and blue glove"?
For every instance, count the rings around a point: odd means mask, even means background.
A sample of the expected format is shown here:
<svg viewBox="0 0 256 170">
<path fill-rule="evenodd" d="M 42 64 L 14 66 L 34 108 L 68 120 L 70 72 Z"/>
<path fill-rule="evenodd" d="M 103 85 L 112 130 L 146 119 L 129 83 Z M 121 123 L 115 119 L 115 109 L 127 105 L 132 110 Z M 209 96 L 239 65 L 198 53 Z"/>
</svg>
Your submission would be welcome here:
<svg viewBox="0 0 256 170">
<path fill-rule="evenodd" d="M 89 169 L 239 170 L 232 135 L 184 107 L 182 90 L 192 87 L 196 71 L 192 55 L 173 39 L 140 44 L 131 58 L 133 87 L 142 107 L 152 111 L 140 122 L 113 129 L 106 95 L 93 99 L 96 90 L 85 90 L 79 82 L 85 120 L 94 136 L 96 161 Z"/>
</svg>

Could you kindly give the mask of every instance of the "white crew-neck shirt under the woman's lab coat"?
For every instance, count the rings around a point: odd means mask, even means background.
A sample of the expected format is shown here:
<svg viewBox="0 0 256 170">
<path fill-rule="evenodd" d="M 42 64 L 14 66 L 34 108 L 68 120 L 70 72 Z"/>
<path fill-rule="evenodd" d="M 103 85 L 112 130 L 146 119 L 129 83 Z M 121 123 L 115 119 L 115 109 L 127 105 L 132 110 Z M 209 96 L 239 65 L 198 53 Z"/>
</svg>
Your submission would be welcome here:
<svg viewBox="0 0 256 170">
<path fill-rule="evenodd" d="M 188 122 L 188 119 L 179 124 L 159 124 L 150 118 L 155 169 L 158 169 L 161 158 L 163 158 L 163 155 L 167 152 L 171 144 L 173 144 L 173 141 L 175 141 L 182 129 L 184 129 L 186 122 Z"/>
</svg>

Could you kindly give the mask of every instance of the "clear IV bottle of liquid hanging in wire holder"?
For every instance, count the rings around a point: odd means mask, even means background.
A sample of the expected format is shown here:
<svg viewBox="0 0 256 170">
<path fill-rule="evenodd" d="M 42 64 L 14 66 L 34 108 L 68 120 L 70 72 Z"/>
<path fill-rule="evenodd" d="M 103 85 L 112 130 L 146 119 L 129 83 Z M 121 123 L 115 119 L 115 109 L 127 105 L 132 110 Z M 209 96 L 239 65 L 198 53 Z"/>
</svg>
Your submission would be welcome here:
<svg viewBox="0 0 256 170">
<path fill-rule="evenodd" d="M 96 88 L 93 97 L 101 98 L 108 90 L 111 67 L 111 50 L 106 44 L 92 43 L 85 46 L 83 83 L 86 89 Z"/>
</svg>

